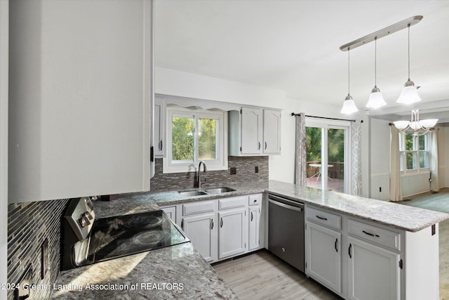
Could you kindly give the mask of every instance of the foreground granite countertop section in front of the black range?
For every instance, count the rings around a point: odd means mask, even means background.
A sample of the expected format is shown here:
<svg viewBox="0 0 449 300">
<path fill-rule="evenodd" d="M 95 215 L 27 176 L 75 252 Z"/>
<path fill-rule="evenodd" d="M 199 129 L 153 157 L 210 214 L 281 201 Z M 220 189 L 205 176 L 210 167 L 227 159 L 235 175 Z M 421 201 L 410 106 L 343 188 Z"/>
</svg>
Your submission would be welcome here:
<svg viewBox="0 0 449 300">
<path fill-rule="evenodd" d="M 51 299 L 238 299 L 192 243 L 60 272 Z"/>
</svg>

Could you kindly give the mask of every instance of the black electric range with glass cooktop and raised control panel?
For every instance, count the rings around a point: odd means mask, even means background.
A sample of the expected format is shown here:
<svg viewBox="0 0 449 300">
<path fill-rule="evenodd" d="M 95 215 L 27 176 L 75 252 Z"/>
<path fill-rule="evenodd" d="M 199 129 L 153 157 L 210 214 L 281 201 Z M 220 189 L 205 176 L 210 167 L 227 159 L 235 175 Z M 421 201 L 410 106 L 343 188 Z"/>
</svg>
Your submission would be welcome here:
<svg viewBox="0 0 449 300">
<path fill-rule="evenodd" d="M 95 219 L 90 198 L 72 201 L 62 224 L 62 270 L 189 242 L 162 210 Z"/>
</svg>

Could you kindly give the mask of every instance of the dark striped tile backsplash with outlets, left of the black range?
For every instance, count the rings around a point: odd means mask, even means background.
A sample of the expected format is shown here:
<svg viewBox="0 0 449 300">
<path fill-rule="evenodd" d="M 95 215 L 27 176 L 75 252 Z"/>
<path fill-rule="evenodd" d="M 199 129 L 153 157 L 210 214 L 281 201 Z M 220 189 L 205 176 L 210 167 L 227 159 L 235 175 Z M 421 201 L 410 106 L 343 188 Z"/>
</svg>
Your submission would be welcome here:
<svg viewBox="0 0 449 300">
<path fill-rule="evenodd" d="M 8 283 L 19 283 L 25 271 L 36 285 L 53 285 L 60 270 L 61 218 L 68 200 L 8 205 Z M 41 279 L 41 245 L 48 240 L 46 275 Z M 31 268 L 29 268 L 31 266 Z M 35 289 L 32 299 L 49 299 L 52 290 Z M 14 299 L 13 289 L 8 299 Z"/>
</svg>

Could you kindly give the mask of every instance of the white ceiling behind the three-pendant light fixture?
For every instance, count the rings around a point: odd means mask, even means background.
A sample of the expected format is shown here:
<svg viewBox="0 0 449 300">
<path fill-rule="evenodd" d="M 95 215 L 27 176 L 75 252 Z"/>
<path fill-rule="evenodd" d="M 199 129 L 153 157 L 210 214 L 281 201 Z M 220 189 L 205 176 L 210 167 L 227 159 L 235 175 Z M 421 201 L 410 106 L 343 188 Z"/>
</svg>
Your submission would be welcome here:
<svg viewBox="0 0 449 300">
<path fill-rule="evenodd" d="M 157 0 L 156 65 L 340 105 L 348 53 L 339 47 L 413 15 L 424 16 L 410 28 L 410 79 L 422 98 L 416 106 L 422 113 L 426 105 L 447 110 L 449 118 L 448 0 Z M 374 86 L 374 46 L 351 50 L 351 96 L 359 110 Z M 388 105 L 371 115 L 409 112 L 413 107 L 395 107 L 406 80 L 401 30 L 377 41 L 377 86 Z"/>
</svg>

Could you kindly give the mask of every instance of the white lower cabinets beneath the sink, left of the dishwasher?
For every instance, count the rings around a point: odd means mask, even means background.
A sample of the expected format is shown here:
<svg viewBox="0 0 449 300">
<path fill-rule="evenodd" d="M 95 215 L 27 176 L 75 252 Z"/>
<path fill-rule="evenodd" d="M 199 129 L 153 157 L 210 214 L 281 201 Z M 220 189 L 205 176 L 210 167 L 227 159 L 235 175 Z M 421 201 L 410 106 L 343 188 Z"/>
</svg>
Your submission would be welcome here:
<svg viewBox="0 0 449 300">
<path fill-rule="evenodd" d="M 262 194 L 161 205 L 208 263 L 264 247 Z"/>
</svg>

